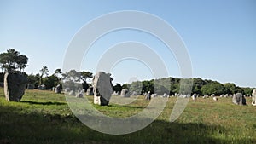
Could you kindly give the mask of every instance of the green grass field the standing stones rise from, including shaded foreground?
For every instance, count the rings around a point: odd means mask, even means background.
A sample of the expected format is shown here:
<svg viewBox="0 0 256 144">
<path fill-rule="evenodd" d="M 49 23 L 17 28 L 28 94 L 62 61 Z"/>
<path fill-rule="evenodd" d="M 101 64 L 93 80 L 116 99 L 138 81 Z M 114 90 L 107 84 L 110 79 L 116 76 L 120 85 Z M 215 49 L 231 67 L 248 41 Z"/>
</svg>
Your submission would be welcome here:
<svg viewBox="0 0 256 144">
<path fill-rule="evenodd" d="M 88 96 L 92 101 L 92 96 Z M 176 98 L 169 98 L 162 114 L 143 130 L 128 135 L 107 135 L 82 124 L 67 106 L 64 95 L 26 90 L 20 102 L 5 101 L 0 89 L 0 143 L 256 143 L 256 107 L 233 105 L 230 98 L 189 100 L 183 114 L 168 122 Z M 112 117 L 127 117 L 148 105 L 143 97 L 121 107 L 95 106 Z"/>
</svg>

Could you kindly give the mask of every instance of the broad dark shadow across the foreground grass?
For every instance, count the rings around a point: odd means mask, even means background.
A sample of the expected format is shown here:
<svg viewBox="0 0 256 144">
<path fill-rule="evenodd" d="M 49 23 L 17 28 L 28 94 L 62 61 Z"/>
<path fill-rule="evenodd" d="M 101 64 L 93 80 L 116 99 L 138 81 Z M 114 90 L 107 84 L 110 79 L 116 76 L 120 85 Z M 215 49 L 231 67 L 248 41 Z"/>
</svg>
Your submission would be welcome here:
<svg viewBox="0 0 256 144">
<path fill-rule="evenodd" d="M 36 103 L 37 104 L 37 103 Z M 25 108 L 0 105 L 0 143 L 256 143 L 256 139 L 223 140 L 218 125 L 169 123 L 156 120 L 143 130 L 128 135 L 108 135 L 91 130 L 73 115 L 23 112 Z"/>
</svg>

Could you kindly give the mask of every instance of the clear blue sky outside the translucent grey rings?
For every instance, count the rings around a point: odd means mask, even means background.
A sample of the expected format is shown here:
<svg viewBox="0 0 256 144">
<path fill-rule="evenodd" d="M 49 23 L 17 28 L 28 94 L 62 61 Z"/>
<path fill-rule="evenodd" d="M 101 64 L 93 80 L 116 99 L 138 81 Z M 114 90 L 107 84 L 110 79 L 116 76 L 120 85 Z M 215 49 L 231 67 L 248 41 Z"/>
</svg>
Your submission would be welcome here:
<svg viewBox="0 0 256 144">
<path fill-rule="evenodd" d="M 48 66 L 62 67 L 68 43 L 79 29 L 102 14 L 139 10 L 166 20 L 187 46 L 193 77 L 256 87 L 256 1 L 57 1 L 1 0 L 0 52 L 15 48 L 29 58 L 27 73 Z M 171 77 L 180 77 L 172 54 L 147 33 L 112 32 L 102 37 L 84 56 L 82 69 L 95 72 L 96 62 L 114 43 L 147 43 L 168 62 Z M 148 67 L 136 60 L 119 62 L 112 70 L 114 82 L 152 78 Z"/>
</svg>

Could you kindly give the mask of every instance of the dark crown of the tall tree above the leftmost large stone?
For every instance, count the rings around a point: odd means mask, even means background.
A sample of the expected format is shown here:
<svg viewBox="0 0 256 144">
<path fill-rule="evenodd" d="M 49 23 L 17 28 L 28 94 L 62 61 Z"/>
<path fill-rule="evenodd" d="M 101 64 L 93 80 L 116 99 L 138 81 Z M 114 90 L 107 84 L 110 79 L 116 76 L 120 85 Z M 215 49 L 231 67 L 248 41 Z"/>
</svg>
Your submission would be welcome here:
<svg viewBox="0 0 256 144">
<path fill-rule="evenodd" d="M 7 53 L 0 54 L 2 72 L 21 72 L 26 68 L 27 61 L 26 55 L 20 55 L 15 49 L 8 49 Z"/>
</svg>

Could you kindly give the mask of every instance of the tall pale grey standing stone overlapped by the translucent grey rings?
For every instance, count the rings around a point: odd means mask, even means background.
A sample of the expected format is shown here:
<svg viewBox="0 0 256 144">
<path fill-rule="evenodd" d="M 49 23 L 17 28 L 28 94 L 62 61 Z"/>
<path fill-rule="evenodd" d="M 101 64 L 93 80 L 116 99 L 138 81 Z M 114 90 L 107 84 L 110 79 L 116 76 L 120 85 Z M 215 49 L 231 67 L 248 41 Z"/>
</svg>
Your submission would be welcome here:
<svg viewBox="0 0 256 144">
<path fill-rule="evenodd" d="M 94 104 L 101 106 L 108 106 L 112 89 L 112 78 L 110 73 L 97 72 L 92 78 L 93 93 L 94 93 Z"/>
</svg>

